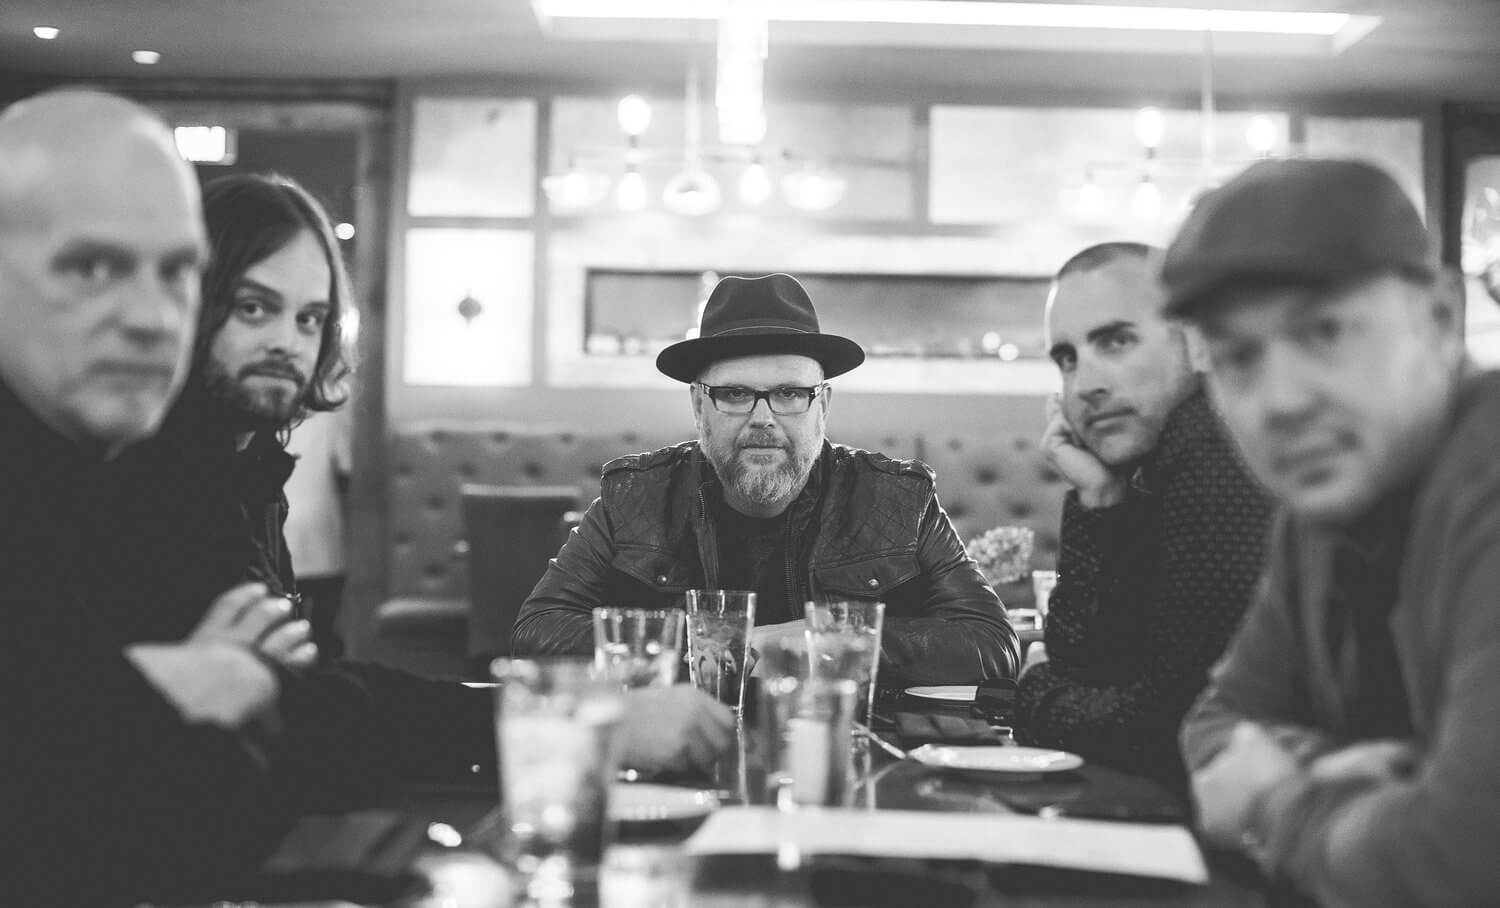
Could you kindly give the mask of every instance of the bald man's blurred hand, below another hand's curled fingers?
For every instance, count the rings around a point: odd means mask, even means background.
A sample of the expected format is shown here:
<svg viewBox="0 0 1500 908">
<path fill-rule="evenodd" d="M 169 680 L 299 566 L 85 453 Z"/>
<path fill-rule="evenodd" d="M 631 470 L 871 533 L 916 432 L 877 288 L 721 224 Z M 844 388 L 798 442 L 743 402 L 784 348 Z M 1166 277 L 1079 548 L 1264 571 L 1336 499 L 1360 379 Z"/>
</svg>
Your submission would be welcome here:
<svg viewBox="0 0 1500 908">
<path fill-rule="evenodd" d="M 132 644 L 124 656 L 186 722 L 237 729 L 276 702 L 276 672 L 242 645 Z"/>
</svg>

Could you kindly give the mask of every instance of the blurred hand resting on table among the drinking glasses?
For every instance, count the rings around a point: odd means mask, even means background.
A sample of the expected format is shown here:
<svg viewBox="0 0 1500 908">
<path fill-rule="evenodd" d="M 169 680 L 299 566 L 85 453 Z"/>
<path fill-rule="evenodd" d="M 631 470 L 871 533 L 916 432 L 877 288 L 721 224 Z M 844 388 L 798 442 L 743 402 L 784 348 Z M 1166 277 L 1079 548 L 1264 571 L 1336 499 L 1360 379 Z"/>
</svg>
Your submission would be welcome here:
<svg viewBox="0 0 1500 908">
<path fill-rule="evenodd" d="M 735 743 L 735 714 L 688 684 L 626 693 L 620 761 L 642 771 L 710 770 Z"/>
</svg>

